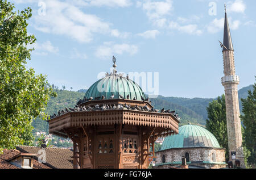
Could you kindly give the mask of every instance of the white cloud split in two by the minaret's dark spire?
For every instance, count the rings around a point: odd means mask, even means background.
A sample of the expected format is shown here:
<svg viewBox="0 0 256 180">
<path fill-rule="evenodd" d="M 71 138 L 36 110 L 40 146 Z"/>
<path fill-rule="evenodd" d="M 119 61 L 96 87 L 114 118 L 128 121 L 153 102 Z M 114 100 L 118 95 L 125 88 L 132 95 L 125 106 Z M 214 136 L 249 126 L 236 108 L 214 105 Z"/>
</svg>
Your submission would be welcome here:
<svg viewBox="0 0 256 180">
<path fill-rule="evenodd" d="M 224 18 L 221 18 L 221 19 L 213 19 L 212 22 L 210 22 L 207 26 L 207 30 L 208 32 L 214 34 L 216 32 L 219 32 L 219 31 L 222 31 L 224 30 L 224 22 L 225 22 L 225 19 Z M 240 21 L 239 20 L 234 20 L 232 21 L 232 19 L 230 18 L 229 19 L 229 27 L 232 29 L 232 30 L 237 30 L 239 27 L 240 27 Z"/>
</svg>

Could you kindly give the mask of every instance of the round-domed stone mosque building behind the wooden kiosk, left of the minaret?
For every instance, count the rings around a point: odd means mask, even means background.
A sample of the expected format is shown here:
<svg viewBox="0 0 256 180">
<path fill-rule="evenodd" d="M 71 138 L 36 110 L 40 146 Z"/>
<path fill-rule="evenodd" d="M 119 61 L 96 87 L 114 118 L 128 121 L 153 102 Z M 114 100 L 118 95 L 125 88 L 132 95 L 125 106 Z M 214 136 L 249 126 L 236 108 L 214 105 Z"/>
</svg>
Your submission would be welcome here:
<svg viewBox="0 0 256 180">
<path fill-rule="evenodd" d="M 179 135 L 164 139 L 160 151 L 155 153 L 154 168 L 177 168 L 185 157 L 188 168 L 226 168 L 225 148 L 221 148 L 216 137 L 198 125 L 183 125 Z"/>
</svg>

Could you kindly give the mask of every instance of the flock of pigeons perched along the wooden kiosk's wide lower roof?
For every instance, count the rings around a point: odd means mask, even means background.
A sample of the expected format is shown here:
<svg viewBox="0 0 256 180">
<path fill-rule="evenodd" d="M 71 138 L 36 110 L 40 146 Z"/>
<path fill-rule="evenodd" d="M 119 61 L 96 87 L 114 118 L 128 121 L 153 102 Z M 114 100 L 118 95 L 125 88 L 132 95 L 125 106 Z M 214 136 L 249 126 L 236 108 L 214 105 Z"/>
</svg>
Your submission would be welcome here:
<svg viewBox="0 0 256 180">
<path fill-rule="evenodd" d="M 137 104 L 133 107 L 129 105 L 125 104 L 118 104 L 117 106 L 111 105 L 111 104 L 103 104 L 102 106 L 100 106 L 99 104 L 96 104 L 95 106 L 91 107 L 88 106 L 87 108 L 85 106 L 79 106 L 76 105 L 74 108 L 65 108 L 64 110 L 59 110 L 57 114 L 53 114 L 50 116 L 51 119 L 56 118 L 58 116 L 64 115 L 68 112 L 82 112 L 82 111 L 105 111 L 105 110 L 137 110 L 137 111 L 147 111 L 147 112 L 160 112 L 160 113 L 168 113 L 168 114 L 172 114 L 175 116 L 175 118 L 177 118 L 178 120 L 180 120 L 179 115 L 176 113 L 175 111 L 171 111 L 169 110 L 164 110 L 164 108 L 162 110 L 156 110 L 154 107 L 153 108 L 148 108 L 147 105 L 146 106 L 137 106 Z"/>
</svg>

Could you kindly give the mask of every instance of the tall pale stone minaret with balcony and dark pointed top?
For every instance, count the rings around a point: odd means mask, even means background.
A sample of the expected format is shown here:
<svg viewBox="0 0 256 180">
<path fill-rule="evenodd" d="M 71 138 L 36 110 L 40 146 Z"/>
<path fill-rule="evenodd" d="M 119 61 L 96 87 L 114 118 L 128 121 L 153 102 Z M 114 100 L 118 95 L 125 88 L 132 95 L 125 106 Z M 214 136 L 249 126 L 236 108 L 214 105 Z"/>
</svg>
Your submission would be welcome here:
<svg viewBox="0 0 256 180">
<path fill-rule="evenodd" d="M 228 144 L 229 144 L 229 160 L 232 161 L 231 152 L 236 152 L 236 159 L 240 160 L 241 167 L 245 168 L 243 149 L 242 149 L 242 132 L 240 110 L 238 102 L 239 77 L 236 75 L 234 66 L 234 49 L 232 38 L 230 35 L 228 17 L 225 7 L 225 25 L 224 25 L 224 40 L 222 44 L 224 74 L 221 78 L 222 85 L 225 87 L 226 97 L 226 123 L 228 128 Z"/>
</svg>

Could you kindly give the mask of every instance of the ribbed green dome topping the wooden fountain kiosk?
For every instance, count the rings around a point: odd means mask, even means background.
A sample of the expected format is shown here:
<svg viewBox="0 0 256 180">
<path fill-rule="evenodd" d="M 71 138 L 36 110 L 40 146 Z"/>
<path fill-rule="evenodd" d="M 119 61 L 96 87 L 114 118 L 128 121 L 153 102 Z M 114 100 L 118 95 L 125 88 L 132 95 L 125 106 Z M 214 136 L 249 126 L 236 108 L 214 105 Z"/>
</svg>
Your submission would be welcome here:
<svg viewBox="0 0 256 180">
<path fill-rule="evenodd" d="M 104 95 L 105 99 L 109 99 L 114 94 L 114 99 L 119 99 L 119 94 L 125 99 L 127 95 L 130 95 L 129 99 L 136 98 L 137 101 L 142 101 L 143 97 L 146 99 L 141 87 L 130 79 L 119 76 L 118 74 L 112 74 L 106 76 L 95 82 L 85 93 L 85 98 L 90 97 L 97 98 Z"/>
</svg>

